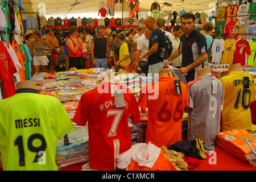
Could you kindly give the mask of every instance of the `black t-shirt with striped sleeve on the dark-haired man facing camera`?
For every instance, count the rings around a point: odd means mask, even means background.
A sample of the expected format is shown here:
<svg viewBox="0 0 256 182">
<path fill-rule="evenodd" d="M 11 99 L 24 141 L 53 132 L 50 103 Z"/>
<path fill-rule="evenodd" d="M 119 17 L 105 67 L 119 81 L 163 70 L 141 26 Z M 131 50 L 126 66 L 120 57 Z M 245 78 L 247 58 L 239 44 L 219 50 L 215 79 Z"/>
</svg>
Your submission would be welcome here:
<svg viewBox="0 0 256 182">
<path fill-rule="evenodd" d="M 186 38 L 186 34 L 181 36 L 179 51 L 182 52 L 181 67 L 187 67 L 187 65 L 196 61 L 201 53 L 207 53 L 207 42 L 205 36 L 194 28 Z M 197 78 L 196 72 L 201 69 L 202 65 L 195 69 L 191 69 L 187 72 L 187 81 L 192 81 Z"/>
</svg>

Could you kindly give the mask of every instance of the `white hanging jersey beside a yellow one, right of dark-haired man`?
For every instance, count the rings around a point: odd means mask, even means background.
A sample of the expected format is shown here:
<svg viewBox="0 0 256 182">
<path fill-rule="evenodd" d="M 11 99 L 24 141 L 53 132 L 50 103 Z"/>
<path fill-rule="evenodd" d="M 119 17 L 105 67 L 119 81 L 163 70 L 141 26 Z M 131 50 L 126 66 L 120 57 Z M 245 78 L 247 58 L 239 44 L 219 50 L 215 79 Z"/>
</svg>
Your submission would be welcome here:
<svg viewBox="0 0 256 182">
<path fill-rule="evenodd" d="M 224 39 L 217 38 L 212 44 L 212 63 L 221 63 L 222 53 L 224 51 Z"/>
</svg>

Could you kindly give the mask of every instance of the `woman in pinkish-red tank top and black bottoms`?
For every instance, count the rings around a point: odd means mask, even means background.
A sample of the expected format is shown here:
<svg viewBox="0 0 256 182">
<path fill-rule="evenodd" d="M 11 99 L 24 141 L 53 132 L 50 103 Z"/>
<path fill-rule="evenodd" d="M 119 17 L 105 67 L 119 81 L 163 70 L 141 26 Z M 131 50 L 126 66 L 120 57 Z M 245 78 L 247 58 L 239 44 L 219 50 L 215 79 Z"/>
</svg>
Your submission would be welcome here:
<svg viewBox="0 0 256 182">
<path fill-rule="evenodd" d="M 82 59 L 82 40 L 77 39 L 78 29 L 75 26 L 72 26 L 69 30 L 69 38 L 67 40 L 67 49 L 68 49 L 68 59 L 69 59 L 69 68 L 75 67 L 77 69 L 84 69 L 80 64 Z"/>
</svg>

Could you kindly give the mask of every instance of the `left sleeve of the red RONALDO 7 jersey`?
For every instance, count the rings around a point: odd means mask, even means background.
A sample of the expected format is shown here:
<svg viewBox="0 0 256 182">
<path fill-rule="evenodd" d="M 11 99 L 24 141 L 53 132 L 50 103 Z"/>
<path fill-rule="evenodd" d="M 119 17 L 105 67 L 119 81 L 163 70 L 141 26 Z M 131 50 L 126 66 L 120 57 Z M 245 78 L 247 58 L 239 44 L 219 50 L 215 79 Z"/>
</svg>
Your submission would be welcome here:
<svg viewBox="0 0 256 182">
<path fill-rule="evenodd" d="M 76 113 L 74 118 L 72 119 L 73 122 L 77 123 L 79 126 L 85 126 L 88 120 L 88 111 L 90 104 L 86 102 L 85 94 L 82 94 L 79 105 L 77 106 Z"/>
</svg>

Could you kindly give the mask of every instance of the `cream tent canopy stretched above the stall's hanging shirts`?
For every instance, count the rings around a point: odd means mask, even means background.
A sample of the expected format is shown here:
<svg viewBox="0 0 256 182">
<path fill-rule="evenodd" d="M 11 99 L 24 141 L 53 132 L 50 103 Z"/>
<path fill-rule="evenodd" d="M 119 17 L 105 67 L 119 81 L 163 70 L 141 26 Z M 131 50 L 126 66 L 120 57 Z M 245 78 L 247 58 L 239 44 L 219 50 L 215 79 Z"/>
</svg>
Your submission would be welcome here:
<svg viewBox="0 0 256 182">
<path fill-rule="evenodd" d="M 74 14 L 98 14 L 98 4 L 102 0 L 44 0 L 43 3 L 40 0 L 23 0 L 23 6 L 27 12 L 37 12 L 43 10 L 44 15 L 62 15 L 62 16 L 72 16 Z M 107 2 L 108 0 L 104 0 Z M 130 11 L 129 4 L 127 0 L 124 1 L 124 13 Z M 210 9 L 216 5 L 217 1 L 205 1 L 205 0 L 139 0 L 139 9 L 142 12 L 150 11 L 153 2 L 158 2 L 160 5 L 160 10 L 164 11 L 181 11 L 185 10 L 187 12 L 205 12 L 208 13 Z M 76 4 L 77 3 L 77 4 Z M 76 4 L 76 5 L 75 5 Z M 75 5 L 75 6 L 74 6 Z M 170 6 L 171 5 L 171 6 Z M 122 10 L 116 10 L 115 16 L 122 14 Z M 125 16 L 123 16 L 125 18 Z M 119 17 L 121 18 L 121 17 Z M 127 17 L 126 17 L 127 18 Z"/>
</svg>

